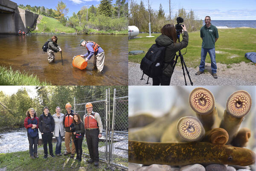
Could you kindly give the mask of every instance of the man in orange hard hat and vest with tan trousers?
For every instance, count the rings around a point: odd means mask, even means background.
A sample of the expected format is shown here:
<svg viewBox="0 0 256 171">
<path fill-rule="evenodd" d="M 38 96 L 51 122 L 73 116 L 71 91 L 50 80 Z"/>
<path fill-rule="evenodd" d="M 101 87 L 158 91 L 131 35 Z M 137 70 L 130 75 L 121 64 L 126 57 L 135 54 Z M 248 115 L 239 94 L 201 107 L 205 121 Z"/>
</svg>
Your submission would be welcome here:
<svg viewBox="0 0 256 171">
<path fill-rule="evenodd" d="M 63 124 L 65 127 L 65 146 L 67 151 L 64 153 L 64 156 L 70 154 L 70 158 L 74 158 L 76 153 L 76 148 L 75 148 L 73 139 L 71 139 L 72 132 L 71 132 L 70 125 L 73 123 L 73 118 L 75 113 L 73 112 L 73 110 L 71 110 L 71 107 L 72 107 L 71 104 L 67 103 L 65 107 L 66 107 L 67 113 L 64 116 Z M 71 150 L 70 150 L 70 140 L 72 142 Z"/>
</svg>

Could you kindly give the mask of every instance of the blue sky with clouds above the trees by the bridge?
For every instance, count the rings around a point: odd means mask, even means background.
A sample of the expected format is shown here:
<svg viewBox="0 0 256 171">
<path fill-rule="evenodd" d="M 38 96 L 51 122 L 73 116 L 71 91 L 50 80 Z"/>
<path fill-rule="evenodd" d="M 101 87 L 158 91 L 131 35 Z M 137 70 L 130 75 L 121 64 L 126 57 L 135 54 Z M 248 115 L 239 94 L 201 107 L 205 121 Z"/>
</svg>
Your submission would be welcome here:
<svg viewBox="0 0 256 171">
<path fill-rule="evenodd" d="M 58 2 L 61 2 L 61 0 L 11 0 L 12 2 L 19 4 L 23 4 L 24 6 L 30 5 L 30 6 L 44 6 L 48 9 L 56 9 L 56 6 L 58 6 Z M 93 5 L 96 6 L 100 4 L 100 0 L 62 0 L 67 5 L 67 8 L 69 9 L 69 12 L 67 16 L 72 16 L 73 12 L 77 13 L 83 6 L 87 5 Z M 114 4 L 116 0 L 112 1 L 112 4 Z M 90 8 L 90 7 L 89 7 Z"/>
</svg>

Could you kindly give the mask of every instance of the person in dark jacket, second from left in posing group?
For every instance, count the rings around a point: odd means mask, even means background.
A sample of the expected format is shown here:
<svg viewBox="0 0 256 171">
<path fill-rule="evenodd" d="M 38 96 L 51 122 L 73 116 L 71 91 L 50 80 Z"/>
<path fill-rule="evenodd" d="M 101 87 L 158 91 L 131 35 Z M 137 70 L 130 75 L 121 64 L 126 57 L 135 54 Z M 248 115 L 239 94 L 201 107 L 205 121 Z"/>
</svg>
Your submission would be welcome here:
<svg viewBox="0 0 256 171">
<path fill-rule="evenodd" d="M 39 130 L 41 132 L 44 143 L 44 159 L 47 159 L 48 156 L 47 142 L 49 144 L 49 152 L 51 157 L 55 157 L 52 151 L 52 133 L 54 131 L 54 119 L 51 113 L 49 113 L 48 107 L 44 107 L 44 112 L 39 117 Z"/>
</svg>

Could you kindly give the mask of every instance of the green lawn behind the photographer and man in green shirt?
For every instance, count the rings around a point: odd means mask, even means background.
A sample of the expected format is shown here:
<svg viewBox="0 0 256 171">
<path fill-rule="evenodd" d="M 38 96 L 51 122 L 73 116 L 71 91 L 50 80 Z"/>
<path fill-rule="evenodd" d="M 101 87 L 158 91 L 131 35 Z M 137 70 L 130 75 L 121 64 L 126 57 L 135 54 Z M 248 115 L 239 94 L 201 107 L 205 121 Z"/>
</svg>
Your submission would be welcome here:
<svg viewBox="0 0 256 171">
<path fill-rule="evenodd" d="M 246 63 L 251 62 L 244 57 L 246 52 L 254 52 L 256 44 L 256 29 L 252 28 L 236 28 L 236 29 L 218 29 L 219 38 L 215 43 L 216 62 L 221 64 L 238 64 L 241 61 Z M 146 38 L 148 34 L 139 34 L 138 37 L 129 40 L 128 51 L 143 50 L 145 53 L 150 46 L 155 43 L 155 39 L 160 34 L 152 34 L 154 38 Z M 181 36 L 180 36 L 181 37 Z M 180 41 L 182 38 L 180 39 Z M 188 67 L 197 67 L 201 61 L 201 45 L 200 31 L 189 32 L 189 45 L 187 46 L 187 53 L 183 55 L 184 61 Z M 181 52 L 184 53 L 185 49 Z M 128 55 L 129 61 L 140 63 L 145 56 Z M 210 63 L 209 54 L 207 54 L 206 62 Z M 177 63 L 180 65 L 180 62 Z"/>
</svg>

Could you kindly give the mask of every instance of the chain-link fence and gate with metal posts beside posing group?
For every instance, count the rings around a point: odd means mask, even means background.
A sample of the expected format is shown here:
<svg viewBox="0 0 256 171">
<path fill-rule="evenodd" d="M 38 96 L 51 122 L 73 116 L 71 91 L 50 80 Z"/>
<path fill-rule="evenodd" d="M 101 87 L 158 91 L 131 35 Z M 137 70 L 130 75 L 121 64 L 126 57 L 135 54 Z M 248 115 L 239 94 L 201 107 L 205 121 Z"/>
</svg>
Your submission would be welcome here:
<svg viewBox="0 0 256 171">
<path fill-rule="evenodd" d="M 90 98 L 74 98 L 74 110 L 83 120 L 87 113 L 86 103 L 93 104 L 93 112 L 100 114 L 103 125 L 103 134 L 99 139 L 99 158 L 128 169 L 128 90 L 112 91 L 108 89 L 105 94 Z M 83 146 L 87 147 L 86 141 L 83 141 Z M 88 150 L 83 152 L 89 155 Z"/>
</svg>

